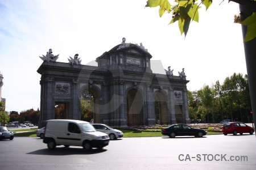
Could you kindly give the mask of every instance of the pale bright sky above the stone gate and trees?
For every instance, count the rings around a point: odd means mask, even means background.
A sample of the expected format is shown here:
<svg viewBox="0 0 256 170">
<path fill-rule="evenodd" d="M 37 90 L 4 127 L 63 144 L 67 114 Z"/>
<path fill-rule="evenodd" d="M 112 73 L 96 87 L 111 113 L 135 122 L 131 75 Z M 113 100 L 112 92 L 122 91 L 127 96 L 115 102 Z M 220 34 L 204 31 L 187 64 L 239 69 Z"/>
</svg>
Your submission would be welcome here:
<svg viewBox="0 0 256 170">
<path fill-rule="evenodd" d="M 213 0 L 199 23 L 192 22 L 187 36 L 180 35 L 171 14 L 159 17 L 159 7 L 144 7 L 146 0 L 0 0 L 0 73 L 6 111 L 40 109 L 39 56 L 48 49 L 68 62 L 76 53 L 82 65 L 94 62 L 115 45 L 139 42 L 148 49 L 153 73 L 171 66 L 174 75 L 185 68 L 189 91 L 217 80 L 222 84 L 233 73 L 247 74 L 237 3 Z M 173 3 L 172 1 L 170 1 Z M 200 2 L 200 1 L 198 1 Z M 221 3 L 221 5 L 220 5 Z"/>
</svg>

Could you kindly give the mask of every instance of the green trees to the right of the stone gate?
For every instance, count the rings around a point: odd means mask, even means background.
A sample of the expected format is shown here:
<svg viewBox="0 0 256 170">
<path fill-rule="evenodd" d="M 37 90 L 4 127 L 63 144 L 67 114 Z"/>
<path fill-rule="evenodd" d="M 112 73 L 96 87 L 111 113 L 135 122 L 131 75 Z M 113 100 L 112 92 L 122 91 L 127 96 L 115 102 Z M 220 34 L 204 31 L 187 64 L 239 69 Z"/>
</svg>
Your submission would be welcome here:
<svg viewBox="0 0 256 170">
<path fill-rule="evenodd" d="M 251 101 L 247 75 L 234 73 L 222 84 L 204 85 L 188 91 L 188 113 L 192 122 L 220 123 L 229 119 L 251 122 Z"/>
</svg>

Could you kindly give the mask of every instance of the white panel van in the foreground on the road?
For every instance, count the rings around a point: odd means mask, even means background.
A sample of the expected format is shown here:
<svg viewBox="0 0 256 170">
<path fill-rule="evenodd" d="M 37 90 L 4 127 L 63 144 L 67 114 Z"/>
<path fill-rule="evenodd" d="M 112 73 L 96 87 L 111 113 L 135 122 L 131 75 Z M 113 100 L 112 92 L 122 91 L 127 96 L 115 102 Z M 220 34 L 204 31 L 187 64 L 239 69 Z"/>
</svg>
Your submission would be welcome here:
<svg viewBox="0 0 256 170">
<path fill-rule="evenodd" d="M 82 146 L 85 151 L 109 145 L 109 136 L 96 131 L 89 122 L 80 120 L 48 120 L 44 143 L 53 150 L 56 146 Z"/>
</svg>

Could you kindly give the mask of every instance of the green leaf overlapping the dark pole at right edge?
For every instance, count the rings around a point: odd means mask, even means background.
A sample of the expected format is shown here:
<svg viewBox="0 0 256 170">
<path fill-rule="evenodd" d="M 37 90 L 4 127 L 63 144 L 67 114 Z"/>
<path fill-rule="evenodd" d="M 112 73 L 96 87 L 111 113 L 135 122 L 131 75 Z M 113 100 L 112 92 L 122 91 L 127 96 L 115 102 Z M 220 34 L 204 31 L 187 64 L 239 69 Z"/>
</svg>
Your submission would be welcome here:
<svg viewBox="0 0 256 170">
<path fill-rule="evenodd" d="M 247 32 L 243 42 L 250 41 L 256 37 L 256 12 L 253 15 L 248 16 L 241 22 L 243 25 L 247 25 Z"/>
</svg>

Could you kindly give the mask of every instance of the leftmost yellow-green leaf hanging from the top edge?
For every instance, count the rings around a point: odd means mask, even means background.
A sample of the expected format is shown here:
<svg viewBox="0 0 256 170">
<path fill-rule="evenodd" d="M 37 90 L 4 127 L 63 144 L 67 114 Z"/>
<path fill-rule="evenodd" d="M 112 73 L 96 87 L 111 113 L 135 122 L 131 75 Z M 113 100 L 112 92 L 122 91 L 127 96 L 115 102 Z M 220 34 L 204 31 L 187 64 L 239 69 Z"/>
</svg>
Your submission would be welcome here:
<svg viewBox="0 0 256 170">
<path fill-rule="evenodd" d="M 164 12 L 167 11 L 170 13 L 171 11 L 171 3 L 168 0 L 148 0 L 147 5 L 145 7 L 157 7 L 159 8 L 159 16 L 162 17 Z"/>
</svg>

